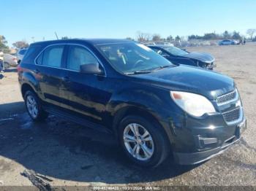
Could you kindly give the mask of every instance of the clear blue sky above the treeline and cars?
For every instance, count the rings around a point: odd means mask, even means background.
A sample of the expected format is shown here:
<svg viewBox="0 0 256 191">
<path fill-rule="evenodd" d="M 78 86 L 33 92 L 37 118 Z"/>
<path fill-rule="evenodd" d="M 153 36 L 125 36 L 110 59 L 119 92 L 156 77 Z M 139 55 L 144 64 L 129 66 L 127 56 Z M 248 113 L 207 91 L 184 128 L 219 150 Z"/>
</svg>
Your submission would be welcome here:
<svg viewBox="0 0 256 191">
<path fill-rule="evenodd" d="M 1 1 L 0 35 L 11 45 L 71 38 L 162 37 L 256 28 L 255 0 L 8 0 Z"/>
</svg>

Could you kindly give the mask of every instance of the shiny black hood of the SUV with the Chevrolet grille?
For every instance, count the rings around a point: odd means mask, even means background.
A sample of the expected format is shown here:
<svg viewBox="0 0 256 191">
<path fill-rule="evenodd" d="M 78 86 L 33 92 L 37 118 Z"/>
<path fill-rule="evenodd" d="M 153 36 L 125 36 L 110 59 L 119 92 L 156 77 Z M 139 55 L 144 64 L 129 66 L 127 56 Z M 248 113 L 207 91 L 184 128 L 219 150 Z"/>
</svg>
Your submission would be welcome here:
<svg viewBox="0 0 256 191">
<path fill-rule="evenodd" d="M 214 71 L 184 65 L 132 77 L 139 78 L 140 82 L 142 79 L 143 83 L 168 90 L 188 91 L 205 95 L 210 100 L 216 99 L 217 96 L 235 88 L 234 81 L 230 77 Z"/>
</svg>

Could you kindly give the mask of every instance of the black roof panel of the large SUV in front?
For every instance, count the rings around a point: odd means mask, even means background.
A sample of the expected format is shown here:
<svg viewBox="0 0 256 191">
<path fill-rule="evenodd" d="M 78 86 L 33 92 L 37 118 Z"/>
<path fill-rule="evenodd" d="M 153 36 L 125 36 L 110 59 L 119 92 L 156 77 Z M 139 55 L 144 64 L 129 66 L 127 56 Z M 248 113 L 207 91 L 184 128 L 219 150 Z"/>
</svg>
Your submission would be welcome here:
<svg viewBox="0 0 256 191">
<path fill-rule="evenodd" d="M 32 44 L 61 44 L 61 43 L 78 43 L 86 42 L 89 44 L 116 44 L 116 43 L 128 43 L 133 42 L 128 39 L 60 39 L 51 41 L 34 42 Z"/>
</svg>

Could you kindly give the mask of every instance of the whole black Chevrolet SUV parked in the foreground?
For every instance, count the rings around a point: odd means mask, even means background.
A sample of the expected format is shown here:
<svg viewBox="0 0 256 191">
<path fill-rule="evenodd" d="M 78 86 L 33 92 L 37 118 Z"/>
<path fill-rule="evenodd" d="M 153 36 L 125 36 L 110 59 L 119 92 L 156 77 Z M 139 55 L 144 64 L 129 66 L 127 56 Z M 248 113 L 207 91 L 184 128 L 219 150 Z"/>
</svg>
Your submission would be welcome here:
<svg viewBox="0 0 256 191">
<path fill-rule="evenodd" d="M 230 77 L 177 66 L 123 39 L 68 39 L 31 44 L 18 66 L 34 121 L 55 114 L 116 135 L 127 157 L 157 166 L 218 155 L 246 128 Z"/>
</svg>

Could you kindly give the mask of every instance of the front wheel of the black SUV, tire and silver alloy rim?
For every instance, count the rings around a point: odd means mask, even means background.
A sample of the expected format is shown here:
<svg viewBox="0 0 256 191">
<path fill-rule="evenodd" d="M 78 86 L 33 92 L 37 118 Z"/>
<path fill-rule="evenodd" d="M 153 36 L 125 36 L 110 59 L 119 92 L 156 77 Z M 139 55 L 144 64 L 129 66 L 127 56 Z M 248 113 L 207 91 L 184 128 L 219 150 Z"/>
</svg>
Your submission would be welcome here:
<svg viewBox="0 0 256 191">
<path fill-rule="evenodd" d="M 136 136 L 131 129 L 132 126 L 135 128 L 136 124 L 138 134 L 140 134 L 138 139 L 135 138 Z M 145 130 L 149 136 L 143 137 L 146 133 Z M 127 137 L 129 138 L 127 139 Z M 135 115 L 127 116 L 121 120 L 118 127 L 118 140 L 129 160 L 144 167 L 157 167 L 166 159 L 170 151 L 170 144 L 162 127 L 155 122 L 149 122 L 145 118 Z M 132 147 L 133 145 L 134 147 Z"/>
</svg>

